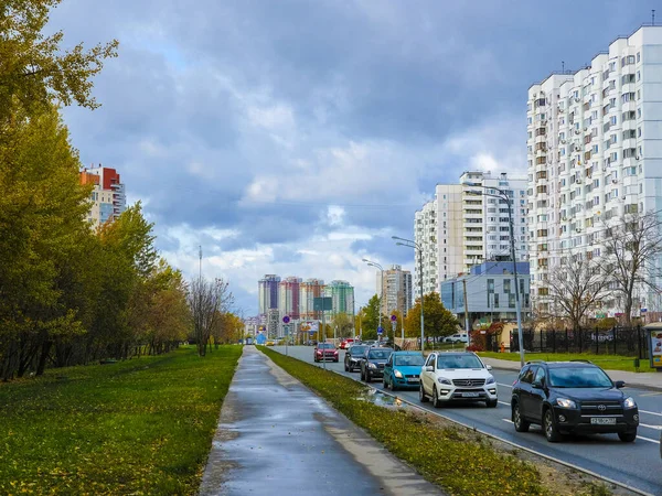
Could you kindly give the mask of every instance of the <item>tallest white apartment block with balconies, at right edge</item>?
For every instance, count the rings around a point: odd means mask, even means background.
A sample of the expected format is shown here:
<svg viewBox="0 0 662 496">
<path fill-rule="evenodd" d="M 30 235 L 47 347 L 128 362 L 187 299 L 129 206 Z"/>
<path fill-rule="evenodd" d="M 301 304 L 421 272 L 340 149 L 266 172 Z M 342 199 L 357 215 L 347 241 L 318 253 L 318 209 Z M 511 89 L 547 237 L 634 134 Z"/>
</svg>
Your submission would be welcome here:
<svg viewBox="0 0 662 496">
<path fill-rule="evenodd" d="M 642 26 L 590 66 L 528 89 L 531 293 L 541 312 L 563 257 L 599 257 L 608 225 L 662 209 L 661 62 L 662 26 Z"/>
</svg>

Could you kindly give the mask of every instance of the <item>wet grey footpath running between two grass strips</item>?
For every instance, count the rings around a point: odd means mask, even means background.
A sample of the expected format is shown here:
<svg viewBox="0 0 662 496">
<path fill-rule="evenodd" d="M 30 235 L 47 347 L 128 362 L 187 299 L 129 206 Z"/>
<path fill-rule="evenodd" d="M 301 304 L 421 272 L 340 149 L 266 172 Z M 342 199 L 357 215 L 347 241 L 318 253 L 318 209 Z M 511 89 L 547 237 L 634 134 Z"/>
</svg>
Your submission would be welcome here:
<svg viewBox="0 0 662 496">
<path fill-rule="evenodd" d="M 253 346 L 223 402 L 201 495 L 440 495 Z"/>
</svg>

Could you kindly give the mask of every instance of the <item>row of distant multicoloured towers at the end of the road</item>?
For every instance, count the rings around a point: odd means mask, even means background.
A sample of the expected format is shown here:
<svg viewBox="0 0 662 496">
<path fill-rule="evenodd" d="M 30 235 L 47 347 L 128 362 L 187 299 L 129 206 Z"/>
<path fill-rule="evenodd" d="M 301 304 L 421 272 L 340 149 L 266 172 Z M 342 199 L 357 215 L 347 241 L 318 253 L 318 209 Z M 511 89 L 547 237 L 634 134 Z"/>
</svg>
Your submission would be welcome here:
<svg viewBox="0 0 662 496">
<path fill-rule="evenodd" d="M 285 315 L 295 326 L 301 321 L 321 320 L 322 312 L 314 310 L 314 299 L 319 296 L 331 298 L 332 310 L 324 314 L 329 321 L 338 313 L 354 315 L 354 288 L 348 281 L 331 281 L 325 285 L 321 279 L 281 280 L 279 276 L 266 274 L 258 281 L 258 328 L 261 325 L 269 337 L 282 337 Z"/>
</svg>

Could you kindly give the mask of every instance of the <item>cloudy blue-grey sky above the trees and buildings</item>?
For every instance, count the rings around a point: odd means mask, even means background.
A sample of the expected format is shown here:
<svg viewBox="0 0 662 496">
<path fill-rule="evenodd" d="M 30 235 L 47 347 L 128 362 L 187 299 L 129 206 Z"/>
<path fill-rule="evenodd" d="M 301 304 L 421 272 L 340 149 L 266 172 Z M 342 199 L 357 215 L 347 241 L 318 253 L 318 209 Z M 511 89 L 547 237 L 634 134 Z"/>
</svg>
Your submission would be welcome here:
<svg viewBox="0 0 662 496">
<path fill-rule="evenodd" d="M 462 171 L 524 175 L 526 90 L 650 22 L 655 1 L 63 0 L 64 47 L 117 39 L 103 105 L 67 108 L 84 165 L 115 168 L 192 277 L 346 280 L 413 270 L 414 214 Z M 660 12 L 662 14 L 662 11 Z"/>
</svg>

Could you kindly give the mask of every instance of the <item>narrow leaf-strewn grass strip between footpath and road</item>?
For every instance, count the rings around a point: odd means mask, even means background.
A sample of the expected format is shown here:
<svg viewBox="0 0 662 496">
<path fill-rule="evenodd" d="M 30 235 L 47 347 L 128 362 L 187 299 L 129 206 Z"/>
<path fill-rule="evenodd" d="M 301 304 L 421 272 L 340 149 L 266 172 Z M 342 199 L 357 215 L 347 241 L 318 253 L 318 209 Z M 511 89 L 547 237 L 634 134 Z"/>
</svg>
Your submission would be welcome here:
<svg viewBox="0 0 662 496">
<path fill-rule="evenodd" d="M 498 453 L 482 434 L 440 428 L 420 416 L 363 401 L 357 398 L 366 388 L 360 382 L 264 346 L 259 349 L 449 494 L 548 494 L 533 464 Z M 402 425 L 406 429 L 394 429 Z"/>
</svg>

